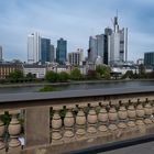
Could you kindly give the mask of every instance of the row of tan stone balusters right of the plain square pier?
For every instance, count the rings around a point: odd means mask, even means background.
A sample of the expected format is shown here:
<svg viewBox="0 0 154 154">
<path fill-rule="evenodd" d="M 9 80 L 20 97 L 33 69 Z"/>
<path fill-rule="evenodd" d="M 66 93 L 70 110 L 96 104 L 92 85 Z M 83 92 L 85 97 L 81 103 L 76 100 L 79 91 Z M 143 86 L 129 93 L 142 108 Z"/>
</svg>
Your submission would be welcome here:
<svg viewBox="0 0 154 154">
<path fill-rule="evenodd" d="M 136 102 L 129 100 L 127 103 L 103 105 L 103 101 L 73 105 L 65 108 L 65 117 L 61 111 L 53 108 L 52 121 L 52 145 L 89 140 L 92 138 L 106 136 L 106 141 L 112 139 L 132 138 L 143 135 L 143 131 L 154 129 L 154 101 L 147 99 Z M 63 107 L 62 107 L 63 109 Z M 144 132 L 144 133 L 145 133 Z M 107 140 L 108 139 L 108 140 Z M 103 140 L 103 138 L 102 138 Z"/>
</svg>

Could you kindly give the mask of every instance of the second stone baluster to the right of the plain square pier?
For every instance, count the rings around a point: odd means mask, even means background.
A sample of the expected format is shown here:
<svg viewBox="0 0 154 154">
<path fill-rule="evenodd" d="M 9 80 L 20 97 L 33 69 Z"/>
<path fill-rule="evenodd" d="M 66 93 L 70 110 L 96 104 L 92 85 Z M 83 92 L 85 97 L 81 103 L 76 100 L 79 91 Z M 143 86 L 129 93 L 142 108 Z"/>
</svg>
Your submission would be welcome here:
<svg viewBox="0 0 154 154">
<path fill-rule="evenodd" d="M 72 109 L 68 109 L 64 118 L 64 142 L 73 142 L 75 140 L 74 132 L 75 118 L 73 116 Z"/>
</svg>

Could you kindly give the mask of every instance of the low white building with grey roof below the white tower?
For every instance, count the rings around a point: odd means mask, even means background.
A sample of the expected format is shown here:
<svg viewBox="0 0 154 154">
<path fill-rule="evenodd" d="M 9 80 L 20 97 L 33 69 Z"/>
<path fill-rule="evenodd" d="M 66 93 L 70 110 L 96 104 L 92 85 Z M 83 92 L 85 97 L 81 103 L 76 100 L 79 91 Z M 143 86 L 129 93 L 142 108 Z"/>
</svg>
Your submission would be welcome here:
<svg viewBox="0 0 154 154">
<path fill-rule="evenodd" d="M 32 74 L 36 78 L 44 78 L 46 74 L 46 66 L 36 64 L 25 64 L 23 65 L 23 74 L 24 76 L 26 76 L 28 74 Z"/>
</svg>

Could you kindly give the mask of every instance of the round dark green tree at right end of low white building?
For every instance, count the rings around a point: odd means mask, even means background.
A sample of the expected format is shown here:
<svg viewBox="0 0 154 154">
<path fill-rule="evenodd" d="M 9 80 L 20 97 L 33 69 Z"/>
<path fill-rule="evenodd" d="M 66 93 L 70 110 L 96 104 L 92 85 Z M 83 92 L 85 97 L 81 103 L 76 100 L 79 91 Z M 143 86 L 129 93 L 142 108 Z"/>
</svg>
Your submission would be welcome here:
<svg viewBox="0 0 154 154">
<path fill-rule="evenodd" d="M 55 81 L 58 80 L 58 74 L 57 74 L 57 73 L 54 73 L 53 70 L 50 70 L 50 72 L 46 73 L 45 79 L 46 79 L 47 81 L 53 81 L 53 82 L 55 82 Z"/>
</svg>

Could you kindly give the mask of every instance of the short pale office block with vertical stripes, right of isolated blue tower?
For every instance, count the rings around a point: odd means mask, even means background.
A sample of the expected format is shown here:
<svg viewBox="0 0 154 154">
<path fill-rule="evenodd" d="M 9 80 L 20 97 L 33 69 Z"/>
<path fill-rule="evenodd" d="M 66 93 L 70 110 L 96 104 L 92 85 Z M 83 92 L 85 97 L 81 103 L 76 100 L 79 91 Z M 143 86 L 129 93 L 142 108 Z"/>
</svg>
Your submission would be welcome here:
<svg viewBox="0 0 154 154">
<path fill-rule="evenodd" d="M 79 66 L 84 62 L 84 50 L 77 48 L 77 52 L 68 53 L 68 62 L 70 65 Z"/>
</svg>

